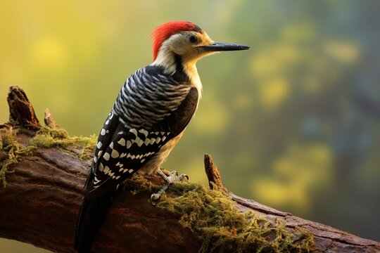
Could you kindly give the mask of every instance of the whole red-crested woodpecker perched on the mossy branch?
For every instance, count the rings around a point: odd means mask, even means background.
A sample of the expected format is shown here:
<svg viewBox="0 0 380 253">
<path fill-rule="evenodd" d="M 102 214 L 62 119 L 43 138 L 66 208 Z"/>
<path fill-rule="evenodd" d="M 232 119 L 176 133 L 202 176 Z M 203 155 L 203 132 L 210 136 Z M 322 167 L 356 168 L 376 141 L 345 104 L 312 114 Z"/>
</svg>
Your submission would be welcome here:
<svg viewBox="0 0 380 253">
<path fill-rule="evenodd" d="M 77 252 L 90 252 L 119 184 L 129 176 L 158 172 L 167 181 L 164 190 L 186 176 L 175 178 L 173 171 L 167 177 L 160 165 L 198 108 L 202 84 L 196 62 L 218 51 L 249 48 L 215 42 L 187 21 L 166 22 L 151 36 L 153 63 L 125 81 L 100 131 L 77 221 Z"/>
</svg>

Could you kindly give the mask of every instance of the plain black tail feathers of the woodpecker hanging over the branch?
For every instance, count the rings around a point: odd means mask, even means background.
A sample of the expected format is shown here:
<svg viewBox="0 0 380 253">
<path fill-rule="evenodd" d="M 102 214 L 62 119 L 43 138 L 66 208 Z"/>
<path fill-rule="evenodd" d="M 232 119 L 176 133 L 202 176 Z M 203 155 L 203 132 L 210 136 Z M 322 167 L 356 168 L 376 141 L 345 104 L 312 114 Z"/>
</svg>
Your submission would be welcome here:
<svg viewBox="0 0 380 253">
<path fill-rule="evenodd" d="M 92 242 L 106 218 L 113 195 L 115 195 L 115 190 L 111 190 L 96 199 L 87 199 L 84 197 L 77 221 L 77 232 L 75 234 L 74 246 L 78 253 L 91 252 Z"/>
</svg>

